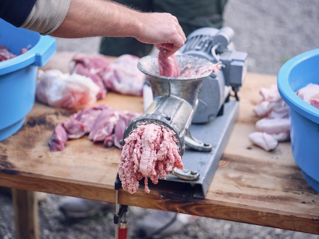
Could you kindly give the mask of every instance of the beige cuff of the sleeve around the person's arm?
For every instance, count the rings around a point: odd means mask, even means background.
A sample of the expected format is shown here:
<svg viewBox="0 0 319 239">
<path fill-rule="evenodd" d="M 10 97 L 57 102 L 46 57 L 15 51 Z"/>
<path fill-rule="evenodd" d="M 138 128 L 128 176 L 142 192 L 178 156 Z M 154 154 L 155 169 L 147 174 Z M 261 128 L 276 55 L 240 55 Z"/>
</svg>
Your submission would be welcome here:
<svg viewBox="0 0 319 239">
<path fill-rule="evenodd" d="M 21 27 L 49 35 L 64 21 L 71 0 L 38 0 Z"/>
</svg>

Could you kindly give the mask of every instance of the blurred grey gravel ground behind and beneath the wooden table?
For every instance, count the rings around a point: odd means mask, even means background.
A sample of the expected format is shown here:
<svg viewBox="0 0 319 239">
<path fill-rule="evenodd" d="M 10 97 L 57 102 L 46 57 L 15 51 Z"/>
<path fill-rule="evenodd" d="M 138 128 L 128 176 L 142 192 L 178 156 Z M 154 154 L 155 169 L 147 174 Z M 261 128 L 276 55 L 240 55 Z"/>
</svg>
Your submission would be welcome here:
<svg viewBox="0 0 319 239">
<path fill-rule="evenodd" d="M 287 59 L 319 47 L 319 1 L 229 0 L 225 24 L 234 29 L 236 49 L 249 55 L 250 72 L 277 74 Z M 96 53 L 99 38 L 57 39 L 58 50 Z M 41 238 L 113 238 L 114 208 L 79 221 L 67 220 L 58 210 L 61 196 L 47 195 L 39 205 Z M 0 194 L 0 238 L 14 238 L 11 197 Z M 129 236 L 134 221 L 150 213 L 129 207 Z M 166 238 L 319 238 L 317 235 L 256 225 L 198 218 L 179 233 Z"/>
</svg>

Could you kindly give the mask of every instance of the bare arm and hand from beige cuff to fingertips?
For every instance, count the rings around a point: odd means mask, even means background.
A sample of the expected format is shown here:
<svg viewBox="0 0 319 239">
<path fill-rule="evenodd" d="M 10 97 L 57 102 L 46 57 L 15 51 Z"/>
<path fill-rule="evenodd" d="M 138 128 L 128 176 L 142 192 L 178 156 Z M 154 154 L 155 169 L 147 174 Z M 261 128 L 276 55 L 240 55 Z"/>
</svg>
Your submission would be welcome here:
<svg viewBox="0 0 319 239">
<path fill-rule="evenodd" d="M 141 13 L 104 0 L 71 0 L 68 13 L 50 34 L 62 38 L 134 37 L 140 42 L 165 48 L 170 56 L 186 38 L 175 16 Z"/>
</svg>

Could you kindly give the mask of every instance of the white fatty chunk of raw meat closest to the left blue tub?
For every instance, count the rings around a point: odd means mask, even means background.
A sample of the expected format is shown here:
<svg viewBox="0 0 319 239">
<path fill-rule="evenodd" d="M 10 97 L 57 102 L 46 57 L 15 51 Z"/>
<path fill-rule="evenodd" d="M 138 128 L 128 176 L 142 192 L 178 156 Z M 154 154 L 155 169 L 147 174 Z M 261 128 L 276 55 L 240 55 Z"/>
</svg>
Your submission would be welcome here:
<svg viewBox="0 0 319 239">
<path fill-rule="evenodd" d="M 75 109 L 95 103 L 99 90 L 91 78 L 47 70 L 37 81 L 36 98 L 49 106 Z"/>
</svg>

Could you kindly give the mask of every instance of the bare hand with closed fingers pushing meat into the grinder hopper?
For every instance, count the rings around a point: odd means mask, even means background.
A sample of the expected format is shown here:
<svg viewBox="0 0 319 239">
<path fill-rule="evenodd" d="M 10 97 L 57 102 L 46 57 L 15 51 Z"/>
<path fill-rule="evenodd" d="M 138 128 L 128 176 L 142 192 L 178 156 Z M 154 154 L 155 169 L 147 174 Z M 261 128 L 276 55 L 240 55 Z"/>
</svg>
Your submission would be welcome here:
<svg viewBox="0 0 319 239">
<path fill-rule="evenodd" d="M 141 13 L 140 32 L 135 37 L 143 43 L 164 48 L 166 57 L 174 54 L 186 41 L 185 34 L 175 16 L 170 13 Z"/>
</svg>

